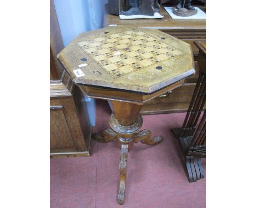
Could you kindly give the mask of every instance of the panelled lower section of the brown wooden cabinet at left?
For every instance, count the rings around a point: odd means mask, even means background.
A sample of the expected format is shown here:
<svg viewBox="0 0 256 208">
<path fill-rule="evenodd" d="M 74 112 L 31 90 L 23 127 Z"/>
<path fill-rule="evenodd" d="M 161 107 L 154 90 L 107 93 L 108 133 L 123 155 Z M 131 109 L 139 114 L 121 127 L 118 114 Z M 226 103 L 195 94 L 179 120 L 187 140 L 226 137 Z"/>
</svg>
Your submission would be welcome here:
<svg viewBox="0 0 256 208">
<path fill-rule="evenodd" d="M 50 84 L 50 156 L 90 156 L 91 125 L 84 95 L 67 74 L 65 79 Z"/>
</svg>

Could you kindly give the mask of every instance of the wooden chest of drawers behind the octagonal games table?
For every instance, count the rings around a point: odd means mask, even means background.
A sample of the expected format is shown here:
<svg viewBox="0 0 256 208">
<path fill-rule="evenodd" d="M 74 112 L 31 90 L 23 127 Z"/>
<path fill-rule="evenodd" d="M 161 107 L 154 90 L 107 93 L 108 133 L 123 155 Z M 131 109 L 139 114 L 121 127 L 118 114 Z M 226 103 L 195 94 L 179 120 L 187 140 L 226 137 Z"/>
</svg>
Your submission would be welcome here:
<svg viewBox="0 0 256 208">
<path fill-rule="evenodd" d="M 197 7 L 206 11 L 204 6 Z M 194 41 L 206 41 L 206 20 L 174 20 L 166 13 L 163 6 L 160 8 L 160 14 L 164 15 L 164 18 L 121 20 L 119 16 L 109 14 L 107 4 L 104 11 L 104 27 L 123 25 L 159 29 L 191 45 L 196 74 L 187 78 L 183 86 L 174 89 L 171 93 L 146 102 L 141 114 L 187 112 L 199 72 L 197 64 L 199 49 L 194 45 Z"/>
</svg>

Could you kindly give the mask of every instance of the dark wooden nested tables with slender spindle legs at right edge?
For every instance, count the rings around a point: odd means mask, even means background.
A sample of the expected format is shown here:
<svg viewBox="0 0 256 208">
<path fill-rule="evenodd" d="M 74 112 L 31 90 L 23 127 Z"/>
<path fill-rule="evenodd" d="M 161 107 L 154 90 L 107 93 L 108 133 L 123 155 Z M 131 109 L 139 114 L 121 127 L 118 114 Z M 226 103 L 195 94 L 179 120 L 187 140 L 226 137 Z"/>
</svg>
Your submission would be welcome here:
<svg viewBox="0 0 256 208">
<path fill-rule="evenodd" d="M 200 75 L 182 127 L 172 129 L 184 155 L 189 182 L 204 178 L 201 157 L 206 157 L 206 43 L 195 44 L 200 50 Z"/>
</svg>

